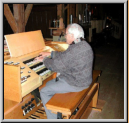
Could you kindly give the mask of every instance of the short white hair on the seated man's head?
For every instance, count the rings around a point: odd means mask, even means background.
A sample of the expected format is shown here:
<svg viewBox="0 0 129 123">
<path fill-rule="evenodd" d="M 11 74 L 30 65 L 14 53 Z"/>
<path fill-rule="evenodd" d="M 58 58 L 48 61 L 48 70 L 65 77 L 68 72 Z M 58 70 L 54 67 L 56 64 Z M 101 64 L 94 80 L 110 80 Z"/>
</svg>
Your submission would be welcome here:
<svg viewBox="0 0 129 123">
<path fill-rule="evenodd" d="M 68 27 L 68 33 L 74 34 L 75 39 L 81 38 L 81 37 L 84 38 L 84 31 L 80 25 L 73 23 L 73 24 L 69 24 L 67 27 Z"/>
</svg>

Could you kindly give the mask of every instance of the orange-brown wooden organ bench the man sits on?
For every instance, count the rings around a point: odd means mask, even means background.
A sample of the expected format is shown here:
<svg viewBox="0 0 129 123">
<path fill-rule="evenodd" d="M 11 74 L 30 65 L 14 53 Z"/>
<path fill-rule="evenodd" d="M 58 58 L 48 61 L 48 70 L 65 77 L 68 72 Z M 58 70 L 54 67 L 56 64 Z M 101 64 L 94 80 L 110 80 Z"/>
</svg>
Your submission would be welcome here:
<svg viewBox="0 0 129 123">
<path fill-rule="evenodd" d="M 57 113 L 57 119 L 86 119 L 92 109 L 97 109 L 99 83 L 96 81 L 100 74 L 100 70 L 93 70 L 92 84 L 83 91 L 55 94 L 47 102 L 47 109 Z"/>
</svg>

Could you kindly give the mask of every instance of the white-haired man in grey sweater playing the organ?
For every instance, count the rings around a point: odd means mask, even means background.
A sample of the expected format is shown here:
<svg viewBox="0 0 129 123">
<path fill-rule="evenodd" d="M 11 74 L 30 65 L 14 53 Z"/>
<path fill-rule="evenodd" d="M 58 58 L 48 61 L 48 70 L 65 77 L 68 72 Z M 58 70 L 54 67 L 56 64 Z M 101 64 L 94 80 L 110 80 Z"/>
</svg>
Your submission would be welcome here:
<svg viewBox="0 0 129 123">
<path fill-rule="evenodd" d="M 52 51 L 40 53 L 36 61 L 41 61 L 51 71 L 60 73 L 58 80 L 46 83 L 40 96 L 48 119 L 57 119 L 57 115 L 46 109 L 45 104 L 56 93 L 79 92 L 92 82 L 93 51 L 84 38 L 82 27 L 76 23 L 66 28 L 66 42 L 69 47 L 64 52 Z M 46 57 L 51 55 L 51 59 Z"/>
</svg>

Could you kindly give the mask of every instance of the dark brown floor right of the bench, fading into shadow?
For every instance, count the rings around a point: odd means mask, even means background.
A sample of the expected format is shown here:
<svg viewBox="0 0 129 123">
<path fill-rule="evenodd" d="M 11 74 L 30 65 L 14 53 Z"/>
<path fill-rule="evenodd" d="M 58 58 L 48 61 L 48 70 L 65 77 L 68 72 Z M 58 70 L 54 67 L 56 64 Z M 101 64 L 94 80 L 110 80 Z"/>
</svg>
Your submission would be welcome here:
<svg viewBox="0 0 129 123">
<path fill-rule="evenodd" d="M 94 69 L 102 70 L 101 77 L 98 79 L 99 99 L 105 100 L 106 103 L 102 112 L 93 110 L 88 119 L 124 119 L 124 45 L 122 42 L 111 40 L 104 46 L 93 48 Z"/>
</svg>

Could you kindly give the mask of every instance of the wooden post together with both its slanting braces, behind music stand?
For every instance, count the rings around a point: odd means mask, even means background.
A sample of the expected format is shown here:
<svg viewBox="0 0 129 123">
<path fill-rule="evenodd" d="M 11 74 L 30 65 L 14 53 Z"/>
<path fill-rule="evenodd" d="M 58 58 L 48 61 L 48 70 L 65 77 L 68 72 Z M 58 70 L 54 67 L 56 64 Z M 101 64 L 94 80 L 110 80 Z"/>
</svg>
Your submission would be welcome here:
<svg viewBox="0 0 129 123">
<path fill-rule="evenodd" d="M 8 4 L 4 4 L 4 15 L 14 33 L 25 32 L 32 7 L 33 4 L 27 4 L 24 11 L 24 4 L 13 4 L 13 15 Z"/>
</svg>

